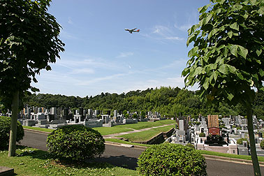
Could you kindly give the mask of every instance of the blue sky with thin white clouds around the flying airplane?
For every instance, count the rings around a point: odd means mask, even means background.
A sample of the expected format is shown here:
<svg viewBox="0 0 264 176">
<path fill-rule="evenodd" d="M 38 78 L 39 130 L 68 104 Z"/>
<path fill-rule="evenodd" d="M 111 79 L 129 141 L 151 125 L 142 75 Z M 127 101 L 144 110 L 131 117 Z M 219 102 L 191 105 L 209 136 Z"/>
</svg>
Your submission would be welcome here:
<svg viewBox="0 0 264 176">
<path fill-rule="evenodd" d="M 53 0 L 65 46 L 52 71 L 32 85 L 44 94 L 95 96 L 184 87 L 187 30 L 209 0 Z M 125 28 L 140 29 L 129 34 Z M 195 89 L 195 88 L 191 88 Z"/>
</svg>

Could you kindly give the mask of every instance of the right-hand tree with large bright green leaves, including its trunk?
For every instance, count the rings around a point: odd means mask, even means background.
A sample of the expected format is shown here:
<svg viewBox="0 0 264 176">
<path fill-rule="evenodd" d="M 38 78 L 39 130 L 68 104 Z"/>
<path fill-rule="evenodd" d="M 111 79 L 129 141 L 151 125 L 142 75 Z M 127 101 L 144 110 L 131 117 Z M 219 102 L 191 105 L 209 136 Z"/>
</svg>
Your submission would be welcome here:
<svg viewBox="0 0 264 176">
<path fill-rule="evenodd" d="M 252 105 L 264 80 L 264 1 L 211 0 L 198 8 L 200 22 L 189 29 L 191 57 L 182 71 L 185 85 L 198 83 L 208 103 L 241 103 L 247 109 L 254 174 L 261 175 L 252 124 Z M 207 8 L 210 7 L 210 10 Z"/>
</svg>

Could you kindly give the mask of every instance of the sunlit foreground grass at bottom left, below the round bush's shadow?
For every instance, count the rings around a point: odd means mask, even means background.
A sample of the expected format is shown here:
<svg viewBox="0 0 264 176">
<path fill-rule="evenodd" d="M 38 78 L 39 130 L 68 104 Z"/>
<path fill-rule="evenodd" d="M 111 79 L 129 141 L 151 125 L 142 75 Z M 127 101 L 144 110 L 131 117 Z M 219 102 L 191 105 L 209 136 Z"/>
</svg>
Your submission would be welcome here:
<svg viewBox="0 0 264 176">
<path fill-rule="evenodd" d="M 0 151 L 0 166 L 14 168 L 16 175 L 137 175 L 135 170 L 119 168 L 109 163 L 61 164 L 49 159 L 47 152 L 28 147 L 19 147 L 17 154 L 18 156 L 8 157 L 7 151 Z"/>
</svg>

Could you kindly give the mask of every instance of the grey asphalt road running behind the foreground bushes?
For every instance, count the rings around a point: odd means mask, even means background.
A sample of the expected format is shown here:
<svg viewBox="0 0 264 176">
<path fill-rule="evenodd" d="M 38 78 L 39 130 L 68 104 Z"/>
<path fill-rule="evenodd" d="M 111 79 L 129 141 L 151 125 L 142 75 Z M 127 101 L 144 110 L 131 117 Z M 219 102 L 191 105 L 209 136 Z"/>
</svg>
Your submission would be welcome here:
<svg viewBox="0 0 264 176">
<path fill-rule="evenodd" d="M 46 139 L 47 134 L 25 131 L 21 145 L 47 150 L 45 147 Z M 138 156 L 140 156 L 143 151 L 143 149 L 105 145 L 105 152 L 101 158 L 95 159 L 95 161 L 108 162 L 115 166 L 135 169 L 137 166 L 136 163 Z M 230 161 L 216 161 L 212 159 L 206 159 L 206 163 L 207 173 L 209 176 L 254 175 L 253 167 L 250 164 L 233 163 Z M 261 167 L 261 173 L 264 173 L 264 167 Z"/>
</svg>

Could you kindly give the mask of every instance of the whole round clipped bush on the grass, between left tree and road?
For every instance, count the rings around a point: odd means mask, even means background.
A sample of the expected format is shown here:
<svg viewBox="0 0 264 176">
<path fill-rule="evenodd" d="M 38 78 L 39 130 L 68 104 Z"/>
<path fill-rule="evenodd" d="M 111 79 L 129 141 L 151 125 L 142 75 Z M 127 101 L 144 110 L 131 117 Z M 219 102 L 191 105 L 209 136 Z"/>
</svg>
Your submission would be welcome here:
<svg viewBox="0 0 264 176">
<path fill-rule="evenodd" d="M 83 161 L 105 151 L 105 140 L 98 131 L 82 125 L 63 126 L 47 136 L 50 154 L 59 159 Z"/>
</svg>

